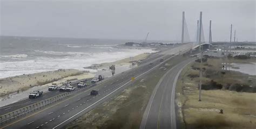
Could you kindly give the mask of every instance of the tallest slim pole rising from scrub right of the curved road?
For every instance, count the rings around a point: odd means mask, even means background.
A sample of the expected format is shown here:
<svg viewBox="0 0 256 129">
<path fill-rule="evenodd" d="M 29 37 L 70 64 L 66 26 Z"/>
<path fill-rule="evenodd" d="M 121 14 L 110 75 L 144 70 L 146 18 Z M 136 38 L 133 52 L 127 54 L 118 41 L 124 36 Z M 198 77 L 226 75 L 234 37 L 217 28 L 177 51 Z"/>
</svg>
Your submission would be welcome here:
<svg viewBox="0 0 256 129">
<path fill-rule="evenodd" d="M 199 20 L 199 48 L 200 48 L 200 55 L 201 55 L 201 62 L 200 62 L 200 82 L 199 82 L 199 99 L 198 101 L 201 101 L 201 88 L 202 88 L 202 62 L 203 62 L 203 52 L 202 52 L 202 46 L 201 46 L 201 29 L 202 29 L 202 12 L 200 12 L 200 20 Z"/>
</svg>

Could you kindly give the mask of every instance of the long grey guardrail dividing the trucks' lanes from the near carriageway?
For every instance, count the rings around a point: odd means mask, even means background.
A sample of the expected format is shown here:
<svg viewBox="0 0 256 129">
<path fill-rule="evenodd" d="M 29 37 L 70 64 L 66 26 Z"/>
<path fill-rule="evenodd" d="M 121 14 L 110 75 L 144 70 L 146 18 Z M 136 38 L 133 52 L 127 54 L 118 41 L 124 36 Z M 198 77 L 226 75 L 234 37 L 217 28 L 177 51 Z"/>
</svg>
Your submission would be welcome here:
<svg viewBox="0 0 256 129">
<path fill-rule="evenodd" d="M 75 84 L 75 83 L 78 83 L 80 81 L 83 81 L 83 80 L 77 80 L 75 82 L 72 82 L 71 84 Z M 76 90 L 73 90 L 73 91 L 66 91 L 66 92 L 63 92 L 63 94 L 59 94 L 59 95 L 44 99 L 42 101 L 33 103 L 31 105 L 22 107 L 21 109 L 17 109 L 15 111 L 5 113 L 2 116 L 0 116 L 0 125 L 4 125 L 6 123 L 9 123 L 10 121 L 13 121 L 13 120 L 16 120 L 18 118 L 24 117 L 24 116 L 26 116 L 27 114 L 29 114 L 31 112 L 35 112 L 35 111 L 40 110 L 43 107 L 48 106 L 52 103 L 56 103 L 58 101 L 61 101 L 62 99 L 70 96 L 71 94 L 73 94 L 75 92 L 79 92 L 79 91 L 82 91 L 84 89 L 88 89 L 88 88 L 93 87 L 95 85 L 96 84 L 92 84 L 92 85 L 89 85 L 89 86 L 84 87 L 84 88 L 76 88 Z"/>
</svg>

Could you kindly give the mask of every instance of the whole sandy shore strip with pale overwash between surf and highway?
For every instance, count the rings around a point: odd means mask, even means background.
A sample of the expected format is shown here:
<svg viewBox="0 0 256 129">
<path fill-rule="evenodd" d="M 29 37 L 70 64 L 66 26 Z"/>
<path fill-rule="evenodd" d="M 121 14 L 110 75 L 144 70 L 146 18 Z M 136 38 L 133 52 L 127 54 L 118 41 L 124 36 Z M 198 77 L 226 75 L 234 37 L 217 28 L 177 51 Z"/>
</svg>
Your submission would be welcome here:
<svg viewBox="0 0 256 129">
<path fill-rule="evenodd" d="M 134 56 L 133 61 L 144 60 L 151 53 L 143 53 Z M 60 85 L 62 82 L 70 80 L 80 80 L 84 78 L 92 78 L 98 75 L 103 75 L 105 78 L 111 77 L 111 71 L 109 66 L 114 64 L 116 66 L 116 74 L 123 71 L 137 67 L 132 65 L 130 58 L 125 58 L 113 62 L 100 63 L 99 67 L 91 68 L 96 71 L 84 71 L 77 69 L 58 69 L 53 71 L 44 71 L 35 74 L 23 74 L 18 76 L 1 78 L 0 82 L 0 105 L 5 106 L 11 103 L 15 103 L 27 97 L 27 94 L 32 90 L 48 91 L 48 87 L 52 83 Z M 25 95 L 23 95 L 25 94 Z"/>
</svg>

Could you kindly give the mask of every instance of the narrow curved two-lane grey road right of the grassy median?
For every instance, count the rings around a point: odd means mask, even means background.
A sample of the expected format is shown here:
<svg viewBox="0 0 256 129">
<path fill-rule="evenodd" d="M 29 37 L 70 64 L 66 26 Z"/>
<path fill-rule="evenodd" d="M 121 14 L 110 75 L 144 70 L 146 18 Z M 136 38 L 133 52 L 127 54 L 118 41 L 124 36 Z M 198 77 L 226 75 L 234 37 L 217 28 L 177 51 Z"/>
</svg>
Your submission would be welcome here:
<svg viewBox="0 0 256 129">
<path fill-rule="evenodd" d="M 192 60 L 180 62 L 161 77 L 147 104 L 140 129 L 177 128 L 174 103 L 176 82 L 181 70 Z"/>
</svg>

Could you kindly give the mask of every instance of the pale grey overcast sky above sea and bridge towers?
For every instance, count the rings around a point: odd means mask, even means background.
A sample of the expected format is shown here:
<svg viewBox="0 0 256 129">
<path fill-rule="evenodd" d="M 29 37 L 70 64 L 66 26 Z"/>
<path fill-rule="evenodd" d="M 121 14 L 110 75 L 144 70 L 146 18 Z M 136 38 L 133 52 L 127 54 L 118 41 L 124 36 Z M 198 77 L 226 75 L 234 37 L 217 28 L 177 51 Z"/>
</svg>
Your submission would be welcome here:
<svg viewBox="0 0 256 129">
<path fill-rule="evenodd" d="M 194 40 L 203 11 L 205 39 L 255 41 L 255 0 L 251 1 L 1 1 L 1 35 L 102 39 L 180 40 L 181 15 Z"/>
</svg>

